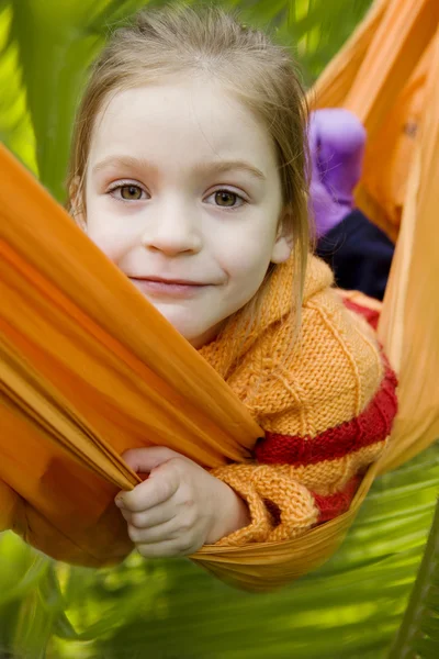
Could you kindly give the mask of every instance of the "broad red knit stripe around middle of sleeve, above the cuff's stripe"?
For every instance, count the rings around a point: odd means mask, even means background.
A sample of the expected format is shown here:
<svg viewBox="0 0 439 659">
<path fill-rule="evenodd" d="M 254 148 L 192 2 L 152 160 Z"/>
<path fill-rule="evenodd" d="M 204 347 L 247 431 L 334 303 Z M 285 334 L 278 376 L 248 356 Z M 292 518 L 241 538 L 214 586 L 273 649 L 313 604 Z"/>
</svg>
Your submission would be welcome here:
<svg viewBox="0 0 439 659">
<path fill-rule="evenodd" d="M 397 410 L 396 377 L 385 359 L 384 364 L 380 390 L 359 416 L 316 437 L 266 433 L 255 448 L 256 459 L 266 465 L 315 465 L 383 442 L 391 433 Z"/>
</svg>

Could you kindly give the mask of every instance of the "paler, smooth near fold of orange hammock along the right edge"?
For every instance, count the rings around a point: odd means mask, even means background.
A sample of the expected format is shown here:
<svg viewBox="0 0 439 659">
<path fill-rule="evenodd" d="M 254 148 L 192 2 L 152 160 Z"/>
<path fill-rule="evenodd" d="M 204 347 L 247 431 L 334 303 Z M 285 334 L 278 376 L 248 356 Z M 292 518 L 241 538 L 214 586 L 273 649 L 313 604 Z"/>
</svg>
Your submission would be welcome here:
<svg viewBox="0 0 439 659">
<path fill-rule="evenodd" d="M 439 30 L 379 334 L 399 377 L 394 468 L 439 437 Z"/>
</svg>

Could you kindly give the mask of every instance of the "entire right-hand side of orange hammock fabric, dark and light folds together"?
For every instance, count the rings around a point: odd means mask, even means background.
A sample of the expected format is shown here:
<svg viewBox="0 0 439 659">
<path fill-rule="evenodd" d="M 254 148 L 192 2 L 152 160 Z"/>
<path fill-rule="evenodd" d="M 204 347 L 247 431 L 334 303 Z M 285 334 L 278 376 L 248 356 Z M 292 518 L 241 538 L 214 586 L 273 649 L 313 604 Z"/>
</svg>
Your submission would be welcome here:
<svg viewBox="0 0 439 659">
<path fill-rule="evenodd" d="M 363 122 L 357 201 L 397 237 L 379 337 L 398 373 L 401 411 L 382 470 L 439 436 L 438 79 L 439 2 L 378 0 L 309 96 Z"/>
</svg>

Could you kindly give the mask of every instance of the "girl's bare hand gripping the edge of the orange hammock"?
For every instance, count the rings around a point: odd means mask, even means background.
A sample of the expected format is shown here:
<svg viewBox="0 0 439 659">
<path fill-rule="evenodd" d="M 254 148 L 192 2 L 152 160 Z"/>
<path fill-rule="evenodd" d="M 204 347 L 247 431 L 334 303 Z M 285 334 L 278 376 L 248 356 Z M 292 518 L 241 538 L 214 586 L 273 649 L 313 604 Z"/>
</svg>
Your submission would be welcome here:
<svg viewBox="0 0 439 659">
<path fill-rule="evenodd" d="M 115 502 L 146 558 L 187 556 L 250 523 L 246 503 L 202 467 L 165 447 L 123 455 L 149 478 Z"/>
</svg>

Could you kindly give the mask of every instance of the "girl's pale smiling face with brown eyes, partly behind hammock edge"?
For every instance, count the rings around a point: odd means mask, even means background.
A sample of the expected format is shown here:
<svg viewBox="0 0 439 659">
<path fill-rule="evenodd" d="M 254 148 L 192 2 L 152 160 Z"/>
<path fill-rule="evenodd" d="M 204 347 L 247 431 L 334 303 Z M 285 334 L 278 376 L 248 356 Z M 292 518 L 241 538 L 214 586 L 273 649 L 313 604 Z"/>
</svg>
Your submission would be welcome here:
<svg viewBox="0 0 439 659">
<path fill-rule="evenodd" d="M 87 233 L 196 348 L 288 259 L 267 130 L 202 79 L 112 97 L 86 176 Z"/>
</svg>

